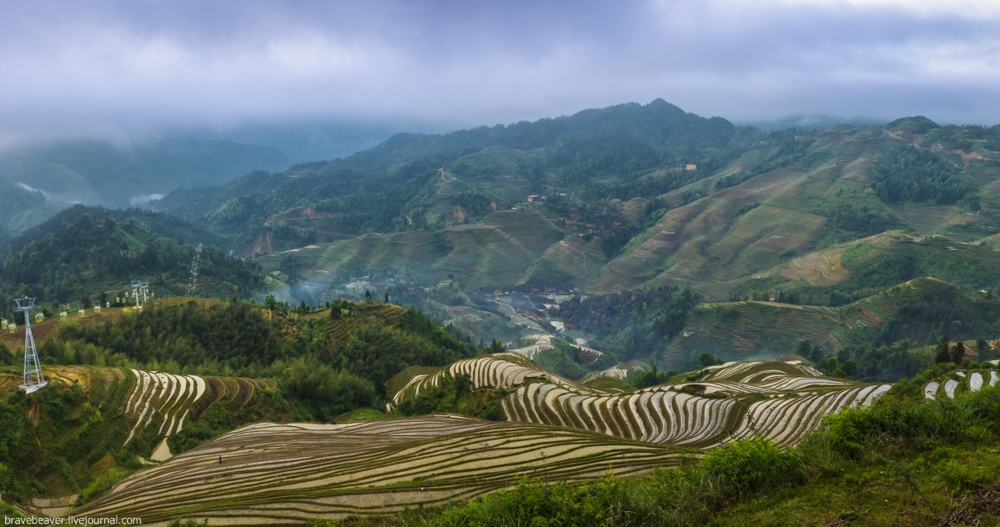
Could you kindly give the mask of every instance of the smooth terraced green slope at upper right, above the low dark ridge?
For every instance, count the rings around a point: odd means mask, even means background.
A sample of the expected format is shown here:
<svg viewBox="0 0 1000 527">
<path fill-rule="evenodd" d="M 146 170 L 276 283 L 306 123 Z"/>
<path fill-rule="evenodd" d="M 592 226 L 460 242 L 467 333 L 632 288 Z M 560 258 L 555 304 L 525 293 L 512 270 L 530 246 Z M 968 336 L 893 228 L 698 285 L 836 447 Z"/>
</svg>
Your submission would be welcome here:
<svg viewBox="0 0 1000 527">
<path fill-rule="evenodd" d="M 950 134 L 965 132 L 952 128 Z M 986 199 L 1000 164 L 980 159 L 980 147 L 949 150 L 928 137 L 916 149 L 874 126 L 797 132 L 791 140 L 804 147 L 800 153 L 775 151 L 763 159 L 748 153 L 726 171 L 665 196 L 680 206 L 633 239 L 592 288 L 681 283 L 722 296 L 732 291 L 717 282 L 767 273 L 892 228 L 968 241 L 1000 227 L 1000 209 Z M 934 169 L 910 178 L 914 163 Z"/>
</svg>

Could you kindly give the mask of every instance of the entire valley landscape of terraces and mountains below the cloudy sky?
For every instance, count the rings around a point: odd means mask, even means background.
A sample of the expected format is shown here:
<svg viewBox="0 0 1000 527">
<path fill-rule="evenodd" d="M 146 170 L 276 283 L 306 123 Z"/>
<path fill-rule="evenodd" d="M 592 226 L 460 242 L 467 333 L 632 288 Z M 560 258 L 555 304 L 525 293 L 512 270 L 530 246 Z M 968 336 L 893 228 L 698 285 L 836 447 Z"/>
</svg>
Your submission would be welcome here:
<svg viewBox="0 0 1000 527">
<path fill-rule="evenodd" d="M 88 155 L 138 171 L 124 189 L 164 145 Z M 1000 433 L 997 127 L 768 131 L 656 100 L 284 170 L 205 148 L 233 156 L 217 179 L 175 160 L 147 209 L 3 194 L 26 207 L 0 216 L 4 514 L 437 525 L 544 489 L 698 524 L 882 463 L 859 452 Z M 726 456 L 786 469 L 734 490 Z"/>
</svg>

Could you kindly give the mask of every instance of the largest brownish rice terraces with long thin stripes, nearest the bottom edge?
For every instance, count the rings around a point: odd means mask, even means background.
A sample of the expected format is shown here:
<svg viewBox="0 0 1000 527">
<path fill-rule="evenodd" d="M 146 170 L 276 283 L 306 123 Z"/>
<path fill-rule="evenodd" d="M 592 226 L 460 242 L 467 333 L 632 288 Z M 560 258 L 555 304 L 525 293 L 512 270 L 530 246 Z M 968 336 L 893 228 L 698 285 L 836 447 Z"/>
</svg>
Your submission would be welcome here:
<svg viewBox="0 0 1000 527">
<path fill-rule="evenodd" d="M 676 466 L 684 455 L 583 430 L 453 416 L 258 424 L 139 472 L 73 514 L 138 516 L 143 525 L 185 517 L 301 525 L 465 500 L 520 475 L 579 481 L 608 471 L 641 474 Z"/>
</svg>

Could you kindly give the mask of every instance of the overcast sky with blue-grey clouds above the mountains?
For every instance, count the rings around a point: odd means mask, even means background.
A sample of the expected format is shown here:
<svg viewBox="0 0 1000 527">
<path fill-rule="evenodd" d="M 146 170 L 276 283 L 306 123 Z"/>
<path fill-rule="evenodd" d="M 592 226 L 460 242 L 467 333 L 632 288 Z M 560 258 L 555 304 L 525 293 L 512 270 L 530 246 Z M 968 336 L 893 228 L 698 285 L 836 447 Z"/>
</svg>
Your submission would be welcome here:
<svg viewBox="0 0 1000 527">
<path fill-rule="evenodd" d="M 1000 0 L 0 0 L 0 139 L 244 120 L 511 123 L 657 97 L 1000 123 Z"/>
</svg>

